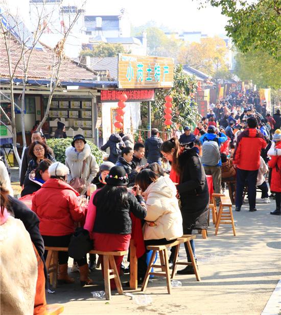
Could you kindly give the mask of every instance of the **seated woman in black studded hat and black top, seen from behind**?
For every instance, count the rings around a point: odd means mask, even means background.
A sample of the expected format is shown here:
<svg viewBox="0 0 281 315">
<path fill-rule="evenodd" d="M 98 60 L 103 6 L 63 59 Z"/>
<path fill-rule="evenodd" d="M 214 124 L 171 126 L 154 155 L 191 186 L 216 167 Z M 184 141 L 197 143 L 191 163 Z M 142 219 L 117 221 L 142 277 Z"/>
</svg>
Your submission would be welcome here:
<svg viewBox="0 0 281 315">
<path fill-rule="evenodd" d="M 129 249 L 132 232 L 130 212 L 138 219 L 144 219 L 147 211 L 140 191 L 136 189 L 136 196 L 127 191 L 128 175 L 121 166 L 110 169 L 105 179 L 106 185 L 92 193 L 84 229 L 88 230 L 93 240 L 95 250 L 126 251 Z M 103 256 L 100 256 L 103 272 Z M 123 256 L 114 256 L 117 269 Z M 116 287 L 110 280 L 111 289 Z"/>
</svg>

